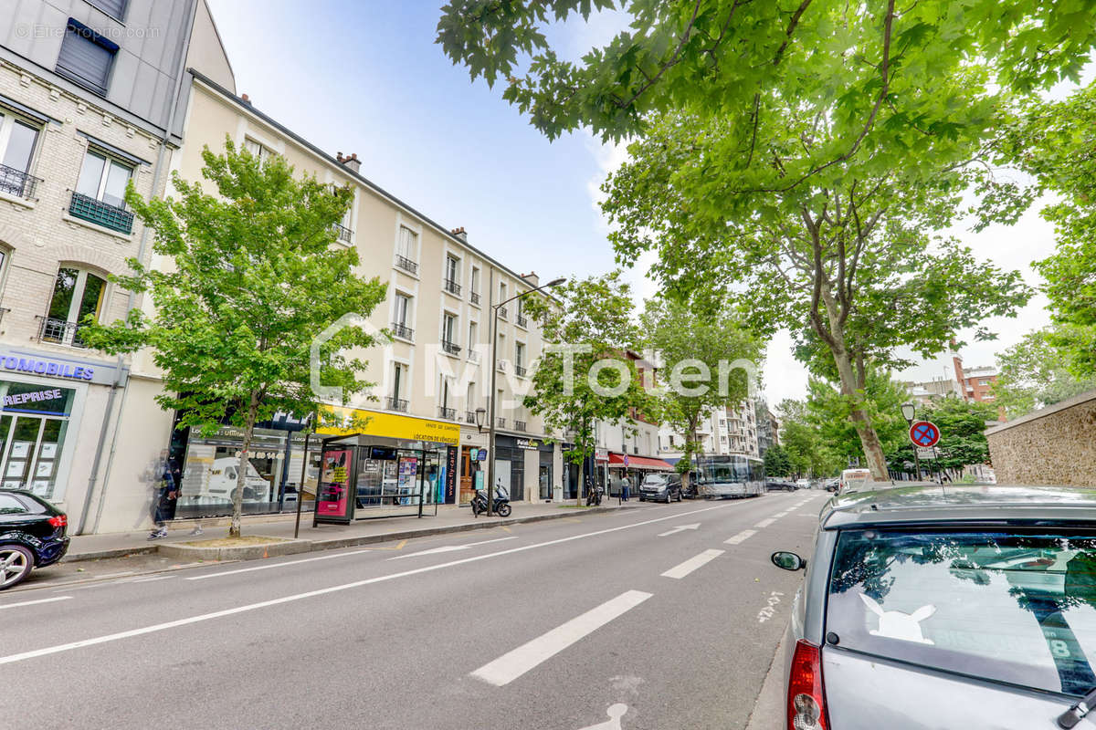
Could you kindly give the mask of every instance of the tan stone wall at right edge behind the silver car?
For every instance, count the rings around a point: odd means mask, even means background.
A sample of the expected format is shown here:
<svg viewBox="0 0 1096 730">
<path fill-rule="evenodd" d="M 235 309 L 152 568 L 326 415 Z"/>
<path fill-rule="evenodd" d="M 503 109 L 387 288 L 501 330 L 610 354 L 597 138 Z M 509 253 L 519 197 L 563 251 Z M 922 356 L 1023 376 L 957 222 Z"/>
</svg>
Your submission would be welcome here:
<svg viewBox="0 0 1096 730">
<path fill-rule="evenodd" d="M 985 432 L 997 484 L 1096 487 L 1096 391 Z"/>
</svg>

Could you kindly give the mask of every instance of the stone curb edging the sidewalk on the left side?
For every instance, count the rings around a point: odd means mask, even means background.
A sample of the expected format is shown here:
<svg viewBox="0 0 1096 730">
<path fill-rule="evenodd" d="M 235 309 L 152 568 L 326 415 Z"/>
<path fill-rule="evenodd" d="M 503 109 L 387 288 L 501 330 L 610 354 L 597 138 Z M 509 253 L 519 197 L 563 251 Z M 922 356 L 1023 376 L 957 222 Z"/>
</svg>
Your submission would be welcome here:
<svg viewBox="0 0 1096 730">
<path fill-rule="evenodd" d="M 243 547 L 195 547 L 178 543 L 159 543 L 155 545 L 142 545 L 137 547 L 121 547 L 109 551 L 95 551 L 91 553 L 78 553 L 66 555 L 61 563 L 79 563 L 82 560 L 100 560 L 103 558 L 126 557 L 127 555 L 149 555 L 160 553 L 169 557 L 186 558 L 191 560 L 254 560 L 260 559 L 265 554 L 266 557 L 282 555 L 296 555 L 298 553 L 315 553 L 319 551 L 336 549 L 340 547 L 354 547 L 357 545 L 370 545 L 375 543 L 387 543 L 393 540 L 411 540 L 414 537 L 429 537 L 431 535 L 444 535 L 456 532 L 469 532 L 471 530 L 490 530 L 502 525 L 522 524 L 527 522 L 543 522 L 545 520 L 559 520 L 576 514 L 597 514 L 604 512 L 615 512 L 621 509 L 635 509 L 625 507 L 590 507 L 576 513 L 534 514 L 530 517 L 516 517 L 506 519 L 483 518 L 480 522 L 465 522 L 450 524 L 441 528 L 419 528 L 414 530 L 400 530 L 397 532 L 385 532 L 373 535 L 354 535 L 350 537 L 330 537 L 320 540 L 289 540 L 269 545 L 247 545 Z"/>
</svg>

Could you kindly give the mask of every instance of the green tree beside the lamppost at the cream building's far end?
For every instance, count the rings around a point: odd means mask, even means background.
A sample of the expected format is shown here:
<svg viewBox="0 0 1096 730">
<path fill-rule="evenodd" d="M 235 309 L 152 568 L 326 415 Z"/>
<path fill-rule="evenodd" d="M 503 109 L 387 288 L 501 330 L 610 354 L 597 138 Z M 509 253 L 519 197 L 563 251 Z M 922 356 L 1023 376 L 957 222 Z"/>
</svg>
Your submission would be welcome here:
<svg viewBox="0 0 1096 730">
<path fill-rule="evenodd" d="M 653 416 L 654 402 L 626 352 L 637 349 L 631 290 L 619 271 L 571 279 L 552 289 L 556 301 L 526 300 L 540 321 L 545 355 L 533 371 L 525 407 L 544 418 L 545 430 L 569 433 L 563 457 L 579 465 L 578 506 L 582 505 L 585 462 L 594 454 L 597 421 Z M 626 426 L 627 428 L 627 426 Z"/>
</svg>

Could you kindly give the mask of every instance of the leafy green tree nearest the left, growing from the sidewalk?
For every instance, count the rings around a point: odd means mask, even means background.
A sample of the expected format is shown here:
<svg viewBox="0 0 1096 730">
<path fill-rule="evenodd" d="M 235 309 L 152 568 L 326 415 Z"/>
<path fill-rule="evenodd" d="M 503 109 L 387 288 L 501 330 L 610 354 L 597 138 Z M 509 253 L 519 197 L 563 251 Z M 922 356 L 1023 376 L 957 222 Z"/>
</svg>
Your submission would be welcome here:
<svg viewBox="0 0 1096 730">
<path fill-rule="evenodd" d="M 129 276 L 112 280 L 149 291 L 155 313 L 126 321 L 90 321 L 80 336 L 107 352 L 148 347 L 162 371 L 161 407 L 180 413 L 179 428 L 212 433 L 224 424 L 243 430 L 229 536 L 240 536 L 248 455 L 254 426 L 276 412 L 319 412 L 310 384 L 316 336 L 347 314 L 367 316 L 385 286 L 354 274 L 357 252 L 335 245 L 334 225 L 353 199 L 315 177 L 294 177 L 281 157 L 260 161 L 237 150 L 203 150 L 201 183 L 174 176 L 179 198 L 142 200 L 130 185 L 126 201 L 155 233 L 153 251 L 170 270 L 129 259 Z M 340 354 L 375 338 L 358 326 L 339 331 L 320 348 L 321 380 L 342 389 L 344 402 L 370 384 L 366 367 Z"/>
</svg>

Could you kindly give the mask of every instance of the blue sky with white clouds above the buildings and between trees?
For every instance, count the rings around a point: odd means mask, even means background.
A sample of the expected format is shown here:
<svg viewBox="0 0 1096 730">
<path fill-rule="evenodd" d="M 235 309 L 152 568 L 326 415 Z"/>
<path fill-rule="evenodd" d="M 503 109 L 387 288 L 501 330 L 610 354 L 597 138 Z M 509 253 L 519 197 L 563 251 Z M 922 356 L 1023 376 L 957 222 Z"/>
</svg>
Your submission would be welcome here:
<svg viewBox="0 0 1096 730">
<path fill-rule="evenodd" d="M 356 152 L 362 174 L 446 228 L 464 227 L 469 243 L 521 274 L 541 280 L 602 274 L 615 266 L 598 190 L 626 159 L 589 132 L 549 142 L 502 89 L 471 82 L 434 44 L 439 3 L 422 0 L 208 0 L 236 73 L 237 90 L 256 108 L 334 154 Z M 307 14 L 306 14 L 307 13 Z M 552 28 L 549 39 L 576 58 L 626 23 L 600 13 Z M 1087 77 L 1091 79 L 1092 73 Z M 1063 95 L 1065 89 L 1055 90 Z M 1053 230 L 1037 210 L 1013 227 L 958 236 L 977 255 L 1024 273 L 1053 252 Z M 640 260 L 629 273 L 637 298 L 658 287 Z M 1049 321 L 1036 297 L 1016 318 L 992 320 L 998 339 L 963 349 L 967 366 L 992 366 L 997 351 Z M 972 340 L 971 333 L 960 339 Z M 802 397 L 807 373 L 791 338 L 769 343 L 764 391 L 770 404 Z M 943 374 L 939 362 L 898 373 Z"/>
</svg>

